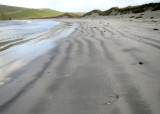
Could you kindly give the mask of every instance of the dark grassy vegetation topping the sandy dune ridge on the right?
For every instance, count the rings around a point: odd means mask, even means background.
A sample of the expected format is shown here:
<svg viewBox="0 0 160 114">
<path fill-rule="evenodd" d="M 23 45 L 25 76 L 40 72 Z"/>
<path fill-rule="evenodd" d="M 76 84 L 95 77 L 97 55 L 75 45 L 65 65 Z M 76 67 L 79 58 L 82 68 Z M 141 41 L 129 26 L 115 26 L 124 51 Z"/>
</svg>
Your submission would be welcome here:
<svg viewBox="0 0 160 114">
<path fill-rule="evenodd" d="M 113 8 L 110 8 L 109 10 L 106 10 L 106 11 L 93 10 L 91 12 L 84 14 L 83 16 L 89 16 L 93 13 L 98 13 L 99 15 L 102 15 L 102 16 L 108 16 L 108 15 L 112 15 L 112 14 L 122 15 L 122 14 L 128 14 L 128 13 L 142 13 L 147 10 L 150 10 L 150 11 L 160 10 L 160 3 L 149 3 L 149 4 L 138 5 L 138 6 L 128 6 L 125 8 L 113 7 Z"/>
</svg>

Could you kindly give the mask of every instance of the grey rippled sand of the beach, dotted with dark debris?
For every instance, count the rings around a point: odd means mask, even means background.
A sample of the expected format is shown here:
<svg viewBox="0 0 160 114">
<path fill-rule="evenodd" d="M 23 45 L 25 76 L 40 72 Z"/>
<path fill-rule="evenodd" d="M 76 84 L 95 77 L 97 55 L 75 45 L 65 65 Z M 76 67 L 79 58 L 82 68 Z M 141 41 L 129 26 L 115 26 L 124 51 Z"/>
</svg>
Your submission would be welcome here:
<svg viewBox="0 0 160 114">
<path fill-rule="evenodd" d="M 0 89 L 1 114 L 159 114 L 159 23 L 61 21 L 79 26 Z"/>
</svg>

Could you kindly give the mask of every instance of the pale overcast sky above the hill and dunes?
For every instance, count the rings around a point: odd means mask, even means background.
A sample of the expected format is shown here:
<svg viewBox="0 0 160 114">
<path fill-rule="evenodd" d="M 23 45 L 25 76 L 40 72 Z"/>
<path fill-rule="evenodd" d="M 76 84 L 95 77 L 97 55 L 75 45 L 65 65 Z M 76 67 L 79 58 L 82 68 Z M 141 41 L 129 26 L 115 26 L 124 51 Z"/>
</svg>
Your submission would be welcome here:
<svg viewBox="0 0 160 114">
<path fill-rule="evenodd" d="M 87 12 L 93 9 L 140 5 L 160 0 L 0 0 L 0 4 L 28 8 L 50 8 L 64 12 Z"/>
</svg>

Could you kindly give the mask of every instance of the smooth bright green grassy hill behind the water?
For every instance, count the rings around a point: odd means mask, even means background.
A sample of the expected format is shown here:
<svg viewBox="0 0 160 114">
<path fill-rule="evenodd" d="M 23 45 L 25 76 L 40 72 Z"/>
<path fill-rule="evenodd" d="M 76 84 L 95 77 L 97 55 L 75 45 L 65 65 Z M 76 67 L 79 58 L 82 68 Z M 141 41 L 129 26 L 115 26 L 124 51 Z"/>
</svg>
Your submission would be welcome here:
<svg viewBox="0 0 160 114">
<path fill-rule="evenodd" d="M 30 8 L 0 5 L 1 20 L 53 17 L 62 14 L 64 13 L 59 11 L 54 11 L 51 9 L 30 9 Z"/>
</svg>

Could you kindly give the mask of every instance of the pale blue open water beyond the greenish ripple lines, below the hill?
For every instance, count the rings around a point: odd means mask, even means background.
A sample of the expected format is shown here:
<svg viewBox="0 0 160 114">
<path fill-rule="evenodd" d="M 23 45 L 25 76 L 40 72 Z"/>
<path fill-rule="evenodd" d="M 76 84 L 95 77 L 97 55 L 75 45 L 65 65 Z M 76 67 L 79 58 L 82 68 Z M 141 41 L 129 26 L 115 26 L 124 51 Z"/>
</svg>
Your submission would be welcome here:
<svg viewBox="0 0 160 114">
<path fill-rule="evenodd" d="M 0 41 L 13 40 L 24 35 L 43 32 L 58 25 L 55 21 L 0 21 Z"/>
</svg>

